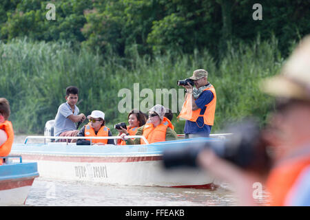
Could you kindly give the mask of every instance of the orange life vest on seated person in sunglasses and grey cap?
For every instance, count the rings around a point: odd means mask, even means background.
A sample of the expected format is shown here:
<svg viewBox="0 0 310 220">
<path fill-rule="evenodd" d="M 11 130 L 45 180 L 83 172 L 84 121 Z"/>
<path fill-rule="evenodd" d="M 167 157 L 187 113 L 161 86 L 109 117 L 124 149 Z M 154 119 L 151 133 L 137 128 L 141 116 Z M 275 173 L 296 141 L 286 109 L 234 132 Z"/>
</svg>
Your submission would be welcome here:
<svg viewBox="0 0 310 220">
<path fill-rule="evenodd" d="M 171 122 L 169 124 L 169 122 L 164 120 L 156 127 L 154 127 L 152 123 L 147 123 L 143 127 L 143 136 L 146 138 L 149 144 L 154 142 L 164 142 L 166 140 L 166 132 L 168 127 L 172 129 Z M 145 144 L 142 138 L 140 138 L 140 143 Z"/>
</svg>

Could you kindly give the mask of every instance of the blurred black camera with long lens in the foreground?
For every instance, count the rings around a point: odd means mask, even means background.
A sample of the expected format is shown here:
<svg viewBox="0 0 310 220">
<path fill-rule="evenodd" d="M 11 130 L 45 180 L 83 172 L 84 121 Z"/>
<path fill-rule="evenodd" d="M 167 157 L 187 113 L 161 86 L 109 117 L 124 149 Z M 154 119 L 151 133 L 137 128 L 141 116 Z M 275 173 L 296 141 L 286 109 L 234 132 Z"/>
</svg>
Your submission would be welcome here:
<svg viewBox="0 0 310 220">
<path fill-rule="evenodd" d="M 188 144 L 180 148 L 167 148 L 163 151 L 163 165 L 165 168 L 187 166 L 198 168 L 197 156 L 205 148 L 240 168 L 265 172 L 269 169 L 270 159 L 267 154 L 267 144 L 262 140 L 258 123 L 246 120 L 239 124 L 232 124 L 229 131 L 234 131 L 225 140 L 206 141 L 202 144 Z"/>
</svg>

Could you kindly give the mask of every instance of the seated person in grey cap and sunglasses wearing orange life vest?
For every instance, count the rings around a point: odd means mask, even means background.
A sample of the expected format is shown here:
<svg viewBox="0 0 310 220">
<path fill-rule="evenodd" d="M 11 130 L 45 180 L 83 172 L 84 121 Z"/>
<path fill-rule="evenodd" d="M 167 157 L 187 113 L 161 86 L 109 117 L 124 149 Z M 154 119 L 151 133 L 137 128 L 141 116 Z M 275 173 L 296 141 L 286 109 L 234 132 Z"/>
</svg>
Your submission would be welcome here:
<svg viewBox="0 0 310 220">
<path fill-rule="evenodd" d="M 176 140 L 177 135 L 173 129 L 173 125 L 169 120 L 165 120 L 165 107 L 161 104 L 156 104 L 152 109 L 149 109 L 149 119 L 147 124 L 141 126 L 136 131 L 136 135 L 143 135 L 149 144 L 154 142 L 165 142 L 167 140 Z M 142 138 L 134 140 L 126 139 L 125 133 L 121 135 L 127 145 L 130 144 L 145 144 Z"/>
</svg>

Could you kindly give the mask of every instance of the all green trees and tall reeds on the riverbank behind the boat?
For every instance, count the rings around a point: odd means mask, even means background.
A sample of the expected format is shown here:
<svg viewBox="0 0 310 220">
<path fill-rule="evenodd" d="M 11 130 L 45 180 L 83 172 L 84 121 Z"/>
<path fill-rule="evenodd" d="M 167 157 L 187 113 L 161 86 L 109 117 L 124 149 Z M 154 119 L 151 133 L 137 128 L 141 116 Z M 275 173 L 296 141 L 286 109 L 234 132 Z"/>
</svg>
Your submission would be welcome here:
<svg viewBox="0 0 310 220">
<path fill-rule="evenodd" d="M 55 21 L 45 17 L 48 3 L 55 5 Z M 247 115 L 264 124 L 273 102 L 258 83 L 277 74 L 296 42 L 310 33 L 310 7 L 309 1 L 262 0 L 262 21 L 254 21 L 254 3 L 1 1 L 0 96 L 10 101 L 15 131 L 43 133 L 69 85 L 81 90 L 81 112 L 101 109 L 112 129 L 127 118 L 117 108 L 120 89 L 132 91 L 134 83 L 154 94 L 179 89 L 176 80 L 199 68 L 207 69 L 218 96 L 213 133 Z M 173 122 L 182 133 L 177 115 Z"/>
</svg>

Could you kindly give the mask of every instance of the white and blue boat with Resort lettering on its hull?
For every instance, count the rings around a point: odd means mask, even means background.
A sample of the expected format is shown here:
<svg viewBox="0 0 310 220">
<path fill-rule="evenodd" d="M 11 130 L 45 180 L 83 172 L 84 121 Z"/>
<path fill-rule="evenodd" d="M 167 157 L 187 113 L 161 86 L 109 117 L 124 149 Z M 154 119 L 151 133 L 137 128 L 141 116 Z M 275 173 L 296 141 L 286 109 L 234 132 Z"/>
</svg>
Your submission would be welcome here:
<svg viewBox="0 0 310 220">
<path fill-rule="evenodd" d="M 136 138 L 143 136 L 127 136 Z M 29 144 L 31 139 L 44 139 L 42 144 Z M 219 141 L 217 137 L 198 137 L 153 144 L 90 145 L 69 142 L 46 142 L 56 139 L 85 139 L 85 137 L 28 136 L 23 144 L 13 144 L 12 153 L 23 156 L 27 162 L 37 162 L 41 177 L 69 181 L 92 181 L 103 184 L 130 186 L 164 186 L 182 188 L 211 188 L 214 177 L 203 170 L 163 167 L 163 150 Z M 87 137 L 92 139 L 120 138 Z"/>
</svg>

